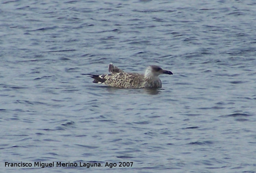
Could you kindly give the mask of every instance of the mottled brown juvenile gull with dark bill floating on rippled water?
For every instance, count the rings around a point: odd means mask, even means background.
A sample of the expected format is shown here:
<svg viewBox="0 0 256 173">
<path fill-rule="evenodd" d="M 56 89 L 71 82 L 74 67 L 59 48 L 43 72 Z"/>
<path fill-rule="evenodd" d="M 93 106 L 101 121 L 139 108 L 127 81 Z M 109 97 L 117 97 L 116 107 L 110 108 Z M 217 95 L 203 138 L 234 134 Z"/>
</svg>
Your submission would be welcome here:
<svg viewBox="0 0 256 173">
<path fill-rule="evenodd" d="M 127 73 L 118 67 L 109 64 L 110 74 L 86 74 L 94 79 L 93 83 L 104 83 L 111 87 L 118 88 L 161 88 L 160 74 L 173 74 L 171 71 L 162 69 L 156 65 L 147 67 L 145 74 Z"/>
</svg>

